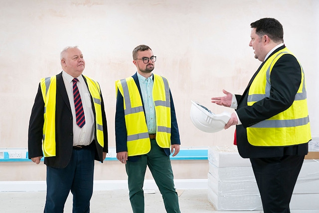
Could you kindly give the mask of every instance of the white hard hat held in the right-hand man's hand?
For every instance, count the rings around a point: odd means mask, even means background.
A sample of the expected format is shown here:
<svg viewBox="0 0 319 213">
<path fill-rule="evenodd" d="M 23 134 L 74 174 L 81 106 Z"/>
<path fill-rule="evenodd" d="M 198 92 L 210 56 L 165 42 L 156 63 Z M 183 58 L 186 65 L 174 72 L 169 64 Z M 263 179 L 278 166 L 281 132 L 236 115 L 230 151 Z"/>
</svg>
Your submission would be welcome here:
<svg viewBox="0 0 319 213">
<path fill-rule="evenodd" d="M 191 101 L 190 119 L 203 132 L 213 133 L 224 129 L 230 116 L 228 112 L 214 114 L 198 102 Z"/>
</svg>

